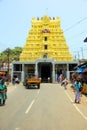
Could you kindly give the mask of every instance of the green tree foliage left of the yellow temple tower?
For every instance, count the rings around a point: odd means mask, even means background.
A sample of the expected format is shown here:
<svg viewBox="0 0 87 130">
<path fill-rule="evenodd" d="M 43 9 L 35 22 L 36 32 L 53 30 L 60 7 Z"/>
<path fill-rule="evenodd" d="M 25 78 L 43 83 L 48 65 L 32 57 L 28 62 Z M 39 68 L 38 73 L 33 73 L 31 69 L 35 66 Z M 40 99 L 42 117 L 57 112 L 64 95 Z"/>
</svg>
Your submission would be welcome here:
<svg viewBox="0 0 87 130">
<path fill-rule="evenodd" d="M 15 47 L 14 49 L 7 48 L 0 53 L 0 62 L 7 63 L 8 57 L 9 61 L 19 61 L 20 53 L 22 52 L 22 47 Z"/>
</svg>

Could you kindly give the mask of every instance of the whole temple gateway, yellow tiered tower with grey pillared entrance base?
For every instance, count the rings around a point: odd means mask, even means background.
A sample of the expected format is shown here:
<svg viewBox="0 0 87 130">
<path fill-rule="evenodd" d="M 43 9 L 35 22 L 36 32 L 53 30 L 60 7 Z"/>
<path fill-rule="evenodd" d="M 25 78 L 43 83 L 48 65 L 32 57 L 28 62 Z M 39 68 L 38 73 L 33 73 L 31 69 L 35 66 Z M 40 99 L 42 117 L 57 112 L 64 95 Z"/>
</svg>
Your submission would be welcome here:
<svg viewBox="0 0 87 130">
<path fill-rule="evenodd" d="M 70 79 L 78 64 L 69 51 L 59 17 L 32 18 L 20 61 L 13 63 L 12 78 L 23 82 L 28 75 L 35 75 L 42 82 L 57 81 L 60 74 Z"/>
</svg>

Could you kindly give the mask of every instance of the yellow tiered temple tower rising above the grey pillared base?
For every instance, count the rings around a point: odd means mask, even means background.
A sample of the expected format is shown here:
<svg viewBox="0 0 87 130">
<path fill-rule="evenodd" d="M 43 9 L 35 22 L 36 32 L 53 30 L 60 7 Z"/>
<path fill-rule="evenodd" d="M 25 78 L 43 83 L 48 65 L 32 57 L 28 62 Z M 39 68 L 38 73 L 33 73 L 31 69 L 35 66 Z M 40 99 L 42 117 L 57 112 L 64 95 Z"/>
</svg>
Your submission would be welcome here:
<svg viewBox="0 0 87 130">
<path fill-rule="evenodd" d="M 59 17 L 32 18 L 31 23 L 32 27 L 20 55 L 21 62 L 35 62 L 37 58 L 53 58 L 59 62 L 73 60 Z"/>
</svg>

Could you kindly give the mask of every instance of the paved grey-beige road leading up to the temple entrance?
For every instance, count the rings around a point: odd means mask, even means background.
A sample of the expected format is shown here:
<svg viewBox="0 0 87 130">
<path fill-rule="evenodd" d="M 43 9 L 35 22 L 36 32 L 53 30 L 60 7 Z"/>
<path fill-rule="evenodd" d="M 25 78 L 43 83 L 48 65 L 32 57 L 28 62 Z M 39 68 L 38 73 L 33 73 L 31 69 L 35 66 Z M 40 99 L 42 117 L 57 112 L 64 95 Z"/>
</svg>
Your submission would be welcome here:
<svg viewBox="0 0 87 130">
<path fill-rule="evenodd" d="M 87 105 L 73 100 L 69 86 L 11 86 L 6 105 L 0 107 L 0 130 L 87 130 Z"/>
</svg>

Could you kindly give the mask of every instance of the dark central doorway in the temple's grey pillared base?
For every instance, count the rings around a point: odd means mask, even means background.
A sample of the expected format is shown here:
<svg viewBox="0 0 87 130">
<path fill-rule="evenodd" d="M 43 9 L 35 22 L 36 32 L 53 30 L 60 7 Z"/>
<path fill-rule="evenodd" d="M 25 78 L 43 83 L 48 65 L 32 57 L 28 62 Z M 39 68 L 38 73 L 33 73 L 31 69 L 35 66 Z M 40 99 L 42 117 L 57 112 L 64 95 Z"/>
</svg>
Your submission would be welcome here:
<svg viewBox="0 0 87 130">
<path fill-rule="evenodd" d="M 48 82 L 48 78 L 51 79 L 51 66 L 50 65 L 42 65 L 41 66 L 42 82 Z"/>
</svg>

